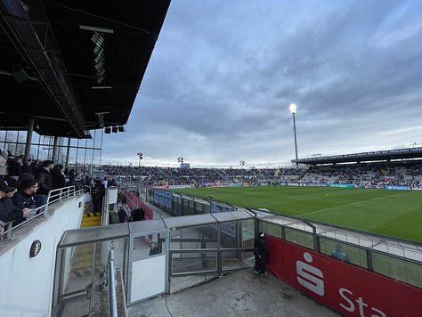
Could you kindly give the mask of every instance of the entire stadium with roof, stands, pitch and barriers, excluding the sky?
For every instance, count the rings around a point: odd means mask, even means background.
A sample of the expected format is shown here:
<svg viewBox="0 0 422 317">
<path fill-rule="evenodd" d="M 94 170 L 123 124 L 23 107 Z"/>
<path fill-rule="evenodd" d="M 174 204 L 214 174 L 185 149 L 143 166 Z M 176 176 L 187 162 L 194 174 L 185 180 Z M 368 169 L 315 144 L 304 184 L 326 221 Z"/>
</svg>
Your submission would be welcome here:
<svg viewBox="0 0 422 317">
<path fill-rule="evenodd" d="M 420 315 L 420 147 L 101 164 L 169 4 L 0 1 L 0 316 Z"/>
</svg>

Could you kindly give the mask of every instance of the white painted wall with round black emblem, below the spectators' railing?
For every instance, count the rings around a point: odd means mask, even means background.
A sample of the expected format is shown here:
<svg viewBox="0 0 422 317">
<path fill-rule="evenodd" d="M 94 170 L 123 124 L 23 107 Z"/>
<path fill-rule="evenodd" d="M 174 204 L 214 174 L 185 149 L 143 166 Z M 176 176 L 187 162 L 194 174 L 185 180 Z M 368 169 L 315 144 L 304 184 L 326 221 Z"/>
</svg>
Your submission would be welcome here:
<svg viewBox="0 0 422 317">
<path fill-rule="evenodd" d="M 64 231 L 79 228 L 84 199 L 85 195 L 80 195 L 64 201 L 62 205 L 54 204 L 49 212 L 56 206 L 60 207 L 53 211 L 53 215 L 37 221 L 37 224 L 17 229 L 17 244 L 0 256 L 1 317 L 50 316 L 56 246 Z M 37 256 L 30 258 L 29 248 L 34 240 L 40 240 L 42 248 Z"/>
</svg>

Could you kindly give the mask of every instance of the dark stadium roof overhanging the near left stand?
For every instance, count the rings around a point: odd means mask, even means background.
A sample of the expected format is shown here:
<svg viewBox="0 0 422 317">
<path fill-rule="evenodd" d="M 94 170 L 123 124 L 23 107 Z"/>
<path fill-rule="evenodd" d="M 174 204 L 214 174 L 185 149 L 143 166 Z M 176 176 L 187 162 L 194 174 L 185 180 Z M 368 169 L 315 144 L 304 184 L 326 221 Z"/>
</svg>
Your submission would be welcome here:
<svg viewBox="0 0 422 317">
<path fill-rule="evenodd" d="M 0 0 L 0 130 L 125 125 L 170 0 Z"/>
</svg>

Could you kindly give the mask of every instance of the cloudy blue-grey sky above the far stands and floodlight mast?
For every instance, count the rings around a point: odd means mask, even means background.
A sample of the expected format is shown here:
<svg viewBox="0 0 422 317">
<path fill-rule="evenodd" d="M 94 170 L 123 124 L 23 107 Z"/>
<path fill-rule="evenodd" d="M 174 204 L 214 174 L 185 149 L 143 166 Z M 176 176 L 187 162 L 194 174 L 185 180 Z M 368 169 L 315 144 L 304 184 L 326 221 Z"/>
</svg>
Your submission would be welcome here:
<svg viewBox="0 0 422 317">
<path fill-rule="evenodd" d="M 173 0 L 103 163 L 286 167 L 422 146 L 422 1 Z M 416 145 L 415 145 L 416 143 Z"/>
</svg>

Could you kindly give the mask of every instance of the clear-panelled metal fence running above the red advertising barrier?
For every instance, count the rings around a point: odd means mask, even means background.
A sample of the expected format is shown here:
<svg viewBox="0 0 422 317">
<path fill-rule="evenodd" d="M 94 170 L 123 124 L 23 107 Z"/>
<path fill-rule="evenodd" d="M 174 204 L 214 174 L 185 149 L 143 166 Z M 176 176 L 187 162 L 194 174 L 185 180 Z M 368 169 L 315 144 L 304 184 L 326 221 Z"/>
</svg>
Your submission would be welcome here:
<svg viewBox="0 0 422 317">
<path fill-rule="evenodd" d="M 254 211 L 260 214 L 258 225 L 262 232 L 325 256 L 332 256 L 339 247 L 350 264 L 422 288 L 421 243 Z"/>
</svg>

